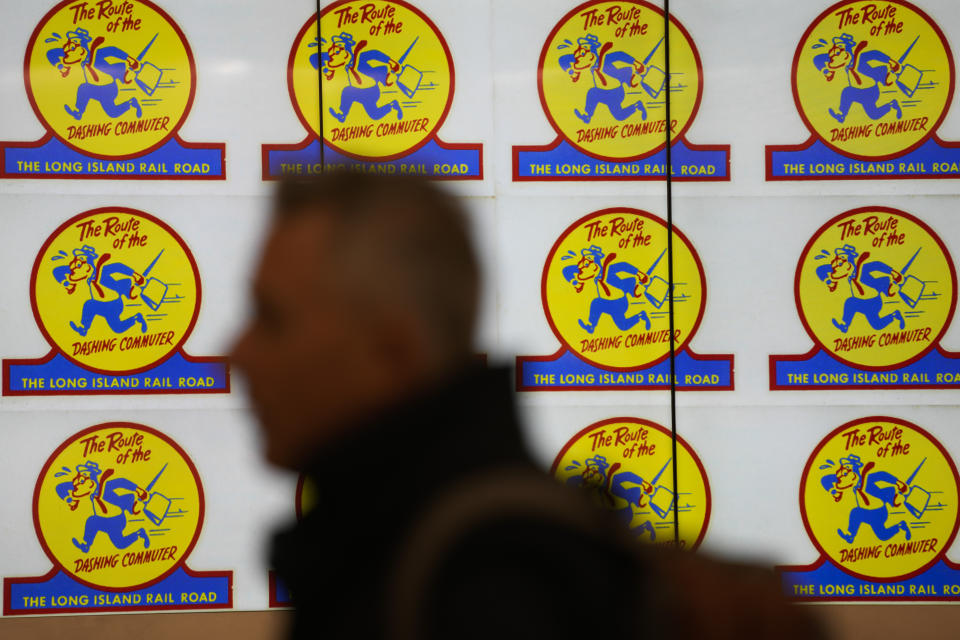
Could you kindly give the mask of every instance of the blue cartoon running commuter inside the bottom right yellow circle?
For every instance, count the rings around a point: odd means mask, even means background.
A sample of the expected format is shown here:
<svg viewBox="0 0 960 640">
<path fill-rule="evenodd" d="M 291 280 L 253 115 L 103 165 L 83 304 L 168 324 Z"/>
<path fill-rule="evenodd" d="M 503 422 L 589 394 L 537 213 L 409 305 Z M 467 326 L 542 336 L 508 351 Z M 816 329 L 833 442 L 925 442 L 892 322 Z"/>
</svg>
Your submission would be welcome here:
<svg viewBox="0 0 960 640">
<path fill-rule="evenodd" d="M 904 502 L 904 495 L 909 487 L 886 471 L 874 471 L 874 463 L 865 465 L 860 456 L 850 455 L 840 458 L 840 466 L 836 472 L 828 473 L 820 478 L 824 490 L 833 496 L 835 502 L 843 500 L 845 492 L 852 493 L 856 506 L 850 510 L 850 519 L 847 530 L 837 529 L 837 534 L 853 544 L 861 525 L 867 525 L 873 530 L 877 539 L 886 541 L 903 531 L 907 540 L 910 539 L 910 527 L 905 520 L 887 526 L 889 513 L 887 507 L 900 507 Z"/>
</svg>

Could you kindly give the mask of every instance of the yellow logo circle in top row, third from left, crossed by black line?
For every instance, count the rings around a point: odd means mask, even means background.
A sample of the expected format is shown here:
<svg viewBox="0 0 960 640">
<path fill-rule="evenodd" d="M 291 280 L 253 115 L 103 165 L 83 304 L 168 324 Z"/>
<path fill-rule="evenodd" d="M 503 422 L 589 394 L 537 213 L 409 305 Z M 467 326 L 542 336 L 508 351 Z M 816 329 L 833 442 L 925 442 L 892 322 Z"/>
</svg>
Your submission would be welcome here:
<svg viewBox="0 0 960 640">
<path fill-rule="evenodd" d="M 703 89 L 693 40 L 670 18 L 666 72 L 663 11 L 639 0 L 587 2 L 547 37 L 537 81 L 553 128 L 595 158 L 636 160 L 666 144 L 693 121 Z"/>
</svg>

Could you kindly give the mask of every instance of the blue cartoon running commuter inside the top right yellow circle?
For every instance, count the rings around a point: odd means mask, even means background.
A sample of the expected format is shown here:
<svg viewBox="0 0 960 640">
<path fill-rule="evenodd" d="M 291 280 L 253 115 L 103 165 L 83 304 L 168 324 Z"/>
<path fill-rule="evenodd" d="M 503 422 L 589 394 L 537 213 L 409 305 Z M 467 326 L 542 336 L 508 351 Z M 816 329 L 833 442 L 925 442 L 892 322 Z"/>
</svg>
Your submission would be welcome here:
<svg viewBox="0 0 960 640">
<path fill-rule="evenodd" d="M 815 48 L 825 47 L 826 42 L 815 44 Z M 827 53 L 821 53 L 813 58 L 813 64 L 823 73 L 827 82 L 832 82 L 837 73 L 843 71 L 847 76 L 848 86 L 840 91 L 840 109 L 829 109 L 830 115 L 838 122 L 843 122 L 850 114 L 854 104 L 863 107 L 864 112 L 871 120 L 879 120 L 894 111 L 899 120 L 903 116 L 900 103 L 896 100 L 878 105 L 880 101 L 880 87 L 891 86 L 897 80 L 900 63 L 882 51 L 865 51 L 867 41 L 854 42 L 853 36 L 844 33 L 833 39 Z"/>
</svg>

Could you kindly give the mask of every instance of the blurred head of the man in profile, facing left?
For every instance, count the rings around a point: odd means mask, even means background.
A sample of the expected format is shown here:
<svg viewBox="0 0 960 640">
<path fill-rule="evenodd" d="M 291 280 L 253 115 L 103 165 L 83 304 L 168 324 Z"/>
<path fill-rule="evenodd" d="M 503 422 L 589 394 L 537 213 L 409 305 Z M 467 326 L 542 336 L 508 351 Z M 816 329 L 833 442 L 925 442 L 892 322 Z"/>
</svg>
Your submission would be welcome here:
<svg viewBox="0 0 960 640">
<path fill-rule="evenodd" d="M 424 180 L 328 173 L 275 209 L 233 360 L 267 458 L 300 468 L 471 360 L 479 275 L 459 204 Z"/>
</svg>

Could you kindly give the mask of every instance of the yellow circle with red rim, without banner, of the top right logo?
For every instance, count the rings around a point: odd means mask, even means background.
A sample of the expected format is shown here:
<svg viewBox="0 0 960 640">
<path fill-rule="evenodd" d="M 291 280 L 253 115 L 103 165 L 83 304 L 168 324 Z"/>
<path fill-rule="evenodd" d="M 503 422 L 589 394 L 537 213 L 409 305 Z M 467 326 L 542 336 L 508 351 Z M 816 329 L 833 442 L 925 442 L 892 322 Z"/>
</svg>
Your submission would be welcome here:
<svg viewBox="0 0 960 640">
<path fill-rule="evenodd" d="M 841 2 L 800 39 L 793 94 L 828 147 L 888 159 L 923 143 L 946 115 L 953 56 L 940 28 L 907 2 Z"/>
</svg>

